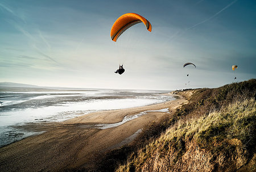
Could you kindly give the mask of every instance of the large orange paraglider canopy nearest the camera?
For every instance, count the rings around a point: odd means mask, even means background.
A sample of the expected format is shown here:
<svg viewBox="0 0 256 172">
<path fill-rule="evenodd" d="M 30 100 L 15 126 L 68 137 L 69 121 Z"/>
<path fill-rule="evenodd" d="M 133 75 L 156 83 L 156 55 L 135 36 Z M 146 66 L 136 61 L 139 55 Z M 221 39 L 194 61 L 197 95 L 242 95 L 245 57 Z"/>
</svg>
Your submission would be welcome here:
<svg viewBox="0 0 256 172">
<path fill-rule="evenodd" d="M 147 30 L 151 32 L 152 26 L 150 22 L 148 22 L 147 19 L 143 18 L 143 16 L 135 13 L 127 13 L 120 16 L 117 20 L 115 20 L 115 23 L 113 24 L 110 36 L 113 41 L 117 41 L 118 37 L 125 32 L 128 28 L 131 26 L 134 26 L 134 24 L 143 22 L 145 26 L 147 27 Z"/>
</svg>

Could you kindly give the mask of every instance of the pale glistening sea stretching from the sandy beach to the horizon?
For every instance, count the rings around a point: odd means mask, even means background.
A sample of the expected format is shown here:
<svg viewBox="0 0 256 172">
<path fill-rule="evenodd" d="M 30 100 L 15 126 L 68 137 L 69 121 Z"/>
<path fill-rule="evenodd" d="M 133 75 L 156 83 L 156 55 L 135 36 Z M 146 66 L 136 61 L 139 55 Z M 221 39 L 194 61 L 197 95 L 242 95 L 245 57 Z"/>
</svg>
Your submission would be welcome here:
<svg viewBox="0 0 256 172">
<path fill-rule="evenodd" d="M 19 126 L 175 99 L 164 93 L 170 91 L 0 87 L 0 147 L 42 133 Z"/>
</svg>

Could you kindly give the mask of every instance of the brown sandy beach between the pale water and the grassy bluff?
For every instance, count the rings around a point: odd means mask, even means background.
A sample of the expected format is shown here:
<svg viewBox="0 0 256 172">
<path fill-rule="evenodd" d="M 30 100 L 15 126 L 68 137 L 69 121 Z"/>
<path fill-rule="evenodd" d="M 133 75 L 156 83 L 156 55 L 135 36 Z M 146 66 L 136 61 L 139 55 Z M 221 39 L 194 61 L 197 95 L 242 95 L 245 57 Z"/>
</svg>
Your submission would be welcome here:
<svg viewBox="0 0 256 172">
<path fill-rule="evenodd" d="M 177 95 L 174 95 L 177 96 Z M 0 171 L 62 171 L 90 165 L 106 150 L 129 144 L 151 121 L 172 115 L 186 103 L 181 96 L 170 102 L 144 107 L 94 112 L 62 123 L 27 124 L 25 129 L 46 131 L 0 148 Z M 168 112 L 159 112 L 168 108 Z M 100 129 L 98 124 L 118 123 L 125 116 L 145 112 L 117 127 Z"/>
</svg>

